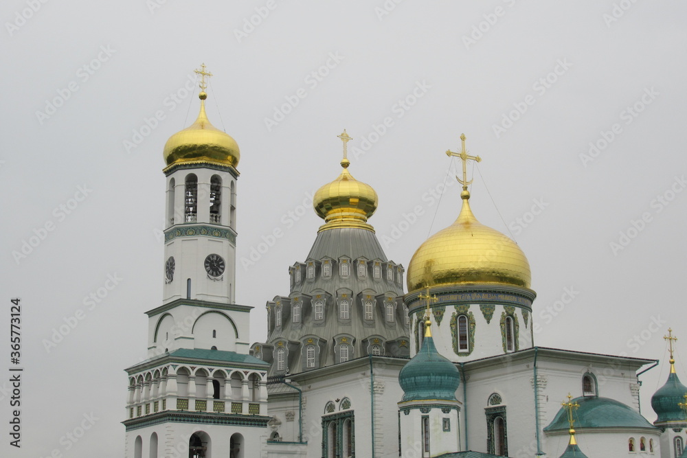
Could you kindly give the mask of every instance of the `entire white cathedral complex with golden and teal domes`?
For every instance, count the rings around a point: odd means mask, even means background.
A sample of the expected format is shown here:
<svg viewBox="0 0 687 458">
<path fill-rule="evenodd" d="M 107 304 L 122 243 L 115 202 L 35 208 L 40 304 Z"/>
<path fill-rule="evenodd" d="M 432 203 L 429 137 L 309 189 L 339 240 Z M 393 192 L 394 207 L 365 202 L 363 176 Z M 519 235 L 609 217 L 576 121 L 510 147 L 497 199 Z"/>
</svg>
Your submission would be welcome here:
<svg viewBox="0 0 687 458">
<path fill-rule="evenodd" d="M 687 387 L 673 360 L 640 414 L 656 360 L 534 345 L 530 266 L 475 218 L 462 138 L 462 209 L 407 264 L 368 218 L 377 195 L 348 170 L 313 206 L 311 251 L 267 301 L 267 340 L 235 303 L 236 141 L 200 113 L 164 146 L 164 297 L 148 359 L 126 369 L 126 458 L 685 458 Z M 569 396 L 570 395 L 570 396 Z M 567 402 L 563 402 L 567 399 Z M 563 402 L 563 404 L 561 404 Z"/>
</svg>

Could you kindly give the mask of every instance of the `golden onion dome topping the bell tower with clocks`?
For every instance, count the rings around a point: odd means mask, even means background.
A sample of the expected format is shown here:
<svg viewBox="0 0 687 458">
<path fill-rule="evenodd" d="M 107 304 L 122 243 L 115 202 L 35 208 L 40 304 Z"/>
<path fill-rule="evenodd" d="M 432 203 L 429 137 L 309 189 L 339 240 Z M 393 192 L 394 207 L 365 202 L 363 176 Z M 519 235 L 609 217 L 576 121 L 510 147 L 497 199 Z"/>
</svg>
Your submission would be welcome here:
<svg viewBox="0 0 687 458">
<path fill-rule="evenodd" d="M 241 155 L 232 137 L 210 124 L 205 114 L 205 91 L 199 94 L 201 112 L 196 122 L 167 140 L 164 158 L 167 165 L 177 163 L 214 163 L 236 168 Z"/>
</svg>

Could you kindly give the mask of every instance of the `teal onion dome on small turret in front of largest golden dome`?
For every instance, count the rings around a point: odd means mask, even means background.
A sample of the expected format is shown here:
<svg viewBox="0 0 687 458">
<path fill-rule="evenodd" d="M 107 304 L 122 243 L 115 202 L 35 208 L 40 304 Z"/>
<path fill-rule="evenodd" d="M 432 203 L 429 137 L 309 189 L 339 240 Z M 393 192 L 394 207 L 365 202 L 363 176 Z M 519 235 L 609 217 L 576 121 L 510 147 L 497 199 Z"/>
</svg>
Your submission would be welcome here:
<svg viewBox="0 0 687 458">
<path fill-rule="evenodd" d="M 418 354 L 398 374 L 398 383 L 405 393 L 404 401 L 455 401 L 460 374 L 451 361 L 436 351 L 431 336 L 426 336 Z"/>
</svg>

